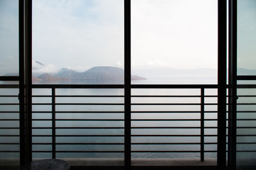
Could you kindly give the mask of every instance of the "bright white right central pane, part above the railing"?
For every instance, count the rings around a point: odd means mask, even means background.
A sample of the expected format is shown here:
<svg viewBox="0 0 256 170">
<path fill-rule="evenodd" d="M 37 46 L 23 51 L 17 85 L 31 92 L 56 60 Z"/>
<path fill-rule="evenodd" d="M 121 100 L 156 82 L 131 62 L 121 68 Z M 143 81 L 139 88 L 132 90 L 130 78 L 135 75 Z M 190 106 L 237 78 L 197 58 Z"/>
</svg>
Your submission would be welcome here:
<svg viewBox="0 0 256 170">
<path fill-rule="evenodd" d="M 217 83 L 218 1 L 131 3 L 132 83 Z"/>
</svg>

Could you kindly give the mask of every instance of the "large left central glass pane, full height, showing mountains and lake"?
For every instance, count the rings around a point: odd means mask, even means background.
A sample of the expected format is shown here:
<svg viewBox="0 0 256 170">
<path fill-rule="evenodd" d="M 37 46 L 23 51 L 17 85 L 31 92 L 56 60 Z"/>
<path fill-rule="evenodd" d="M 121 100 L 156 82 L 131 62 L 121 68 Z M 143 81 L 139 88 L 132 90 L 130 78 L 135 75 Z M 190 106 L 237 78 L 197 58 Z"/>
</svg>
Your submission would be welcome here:
<svg viewBox="0 0 256 170">
<path fill-rule="evenodd" d="M 123 84 L 124 1 L 33 1 L 33 83 Z M 55 115 L 56 158 L 124 165 L 124 89 L 56 88 L 55 114 L 52 95 L 33 88 L 33 158 L 52 157 Z"/>
</svg>

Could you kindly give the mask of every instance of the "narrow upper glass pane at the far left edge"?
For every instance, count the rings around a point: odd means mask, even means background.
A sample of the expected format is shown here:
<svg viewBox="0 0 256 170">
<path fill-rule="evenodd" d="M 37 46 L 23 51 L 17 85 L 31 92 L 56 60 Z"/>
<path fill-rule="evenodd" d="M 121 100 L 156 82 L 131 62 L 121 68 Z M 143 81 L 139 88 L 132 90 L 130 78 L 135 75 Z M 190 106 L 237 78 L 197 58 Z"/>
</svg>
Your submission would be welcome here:
<svg viewBox="0 0 256 170">
<path fill-rule="evenodd" d="M 19 1 L 0 1 L 0 76 L 19 74 Z"/>
</svg>

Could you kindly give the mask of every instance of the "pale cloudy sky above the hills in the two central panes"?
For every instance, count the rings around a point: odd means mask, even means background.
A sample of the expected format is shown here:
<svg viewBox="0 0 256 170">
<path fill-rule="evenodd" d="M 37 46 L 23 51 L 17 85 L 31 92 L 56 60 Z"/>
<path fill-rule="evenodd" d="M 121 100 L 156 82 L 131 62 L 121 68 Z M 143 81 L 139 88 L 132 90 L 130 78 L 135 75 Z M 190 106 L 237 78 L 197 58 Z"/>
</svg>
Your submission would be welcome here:
<svg viewBox="0 0 256 170">
<path fill-rule="evenodd" d="M 217 7 L 215 0 L 132 1 L 132 67 L 217 67 Z M 124 67 L 124 1 L 33 1 L 33 59 Z"/>
</svg>

